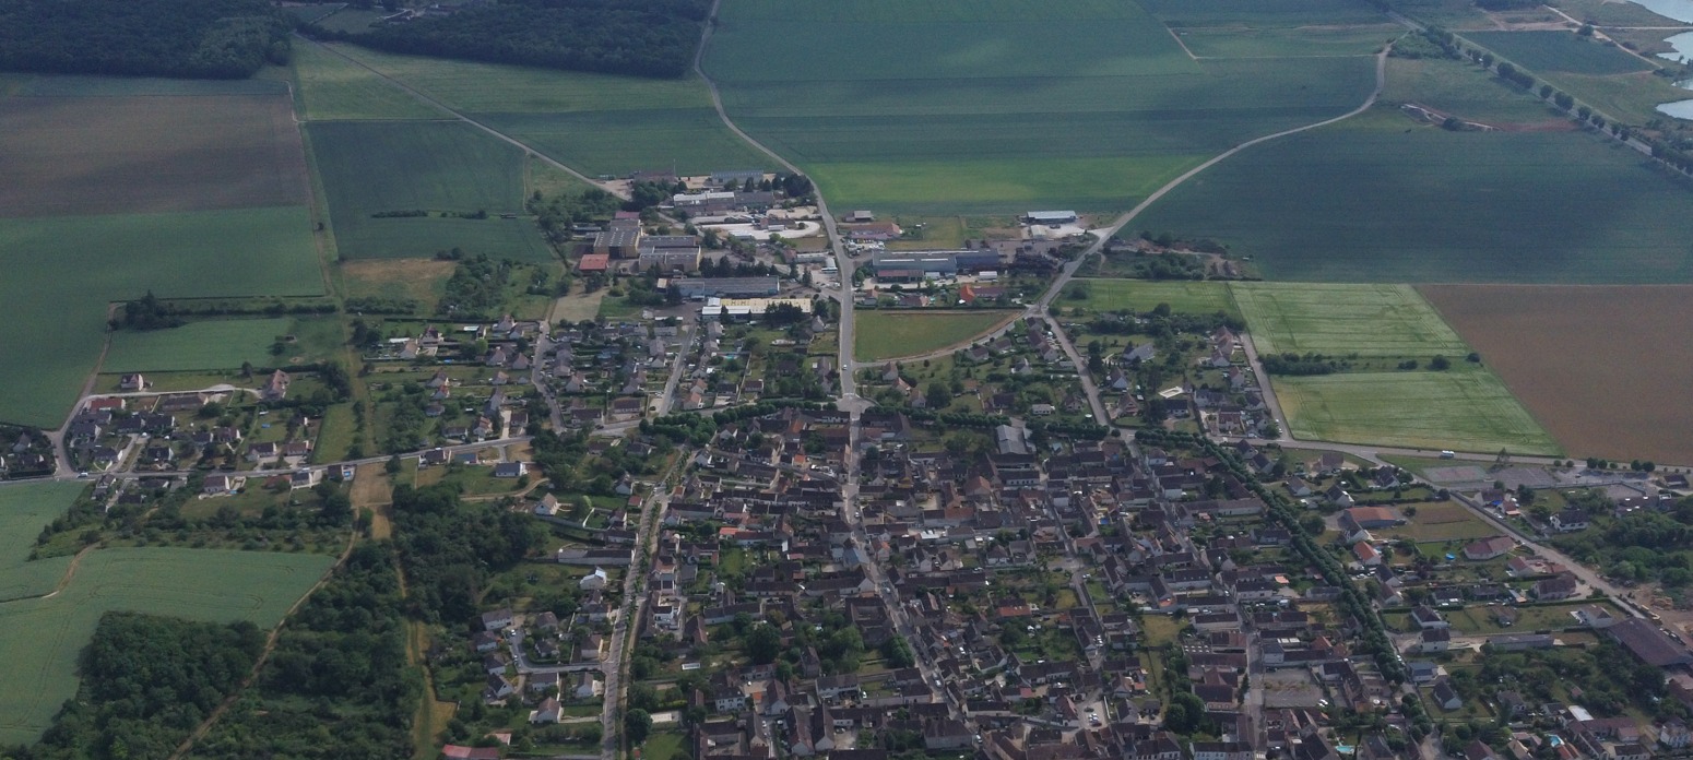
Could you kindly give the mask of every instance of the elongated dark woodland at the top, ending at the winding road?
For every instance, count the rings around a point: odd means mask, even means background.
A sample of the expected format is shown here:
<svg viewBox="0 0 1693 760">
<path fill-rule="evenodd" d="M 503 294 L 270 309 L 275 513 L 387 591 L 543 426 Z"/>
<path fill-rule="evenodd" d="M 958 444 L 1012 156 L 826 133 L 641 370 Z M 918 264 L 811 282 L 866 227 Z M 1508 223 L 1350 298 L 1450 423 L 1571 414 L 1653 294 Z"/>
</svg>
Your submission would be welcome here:
<svg viewBox="0 0 1693 760">
<path fill-rule="evenodd" d="M 704 0 L 508 0 L 452 15 L 422 17 L 313 37 L 389 52 L 513 63 L 571 71 L 684 76 L 694 64 Z"/>
</svg>

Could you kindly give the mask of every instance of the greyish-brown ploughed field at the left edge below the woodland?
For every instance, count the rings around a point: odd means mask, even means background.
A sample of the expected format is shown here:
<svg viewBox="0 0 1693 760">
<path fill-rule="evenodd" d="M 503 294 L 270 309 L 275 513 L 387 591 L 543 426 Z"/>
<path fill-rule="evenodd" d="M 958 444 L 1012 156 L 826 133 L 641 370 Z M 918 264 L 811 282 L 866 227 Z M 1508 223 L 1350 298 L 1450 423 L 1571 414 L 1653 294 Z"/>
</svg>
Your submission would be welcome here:
<svg viewBox="0 0 1693 760">
<path fill-rule="evenodd" d="M 0 217 L 306 201 L 286 95 L 0 100 Z"/>
</svg>

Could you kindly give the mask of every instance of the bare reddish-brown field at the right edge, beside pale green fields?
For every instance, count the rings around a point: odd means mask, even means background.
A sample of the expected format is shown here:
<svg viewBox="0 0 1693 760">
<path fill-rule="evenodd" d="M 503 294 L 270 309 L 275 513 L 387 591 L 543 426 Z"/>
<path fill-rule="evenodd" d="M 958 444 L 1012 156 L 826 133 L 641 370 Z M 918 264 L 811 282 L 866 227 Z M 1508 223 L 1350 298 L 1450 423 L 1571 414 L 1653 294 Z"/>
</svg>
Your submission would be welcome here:
<svg viewBox="0 0 1693 760">
<path fill-rule="evenodd" d="M 1693 286 L 1417 289 L 1569 454 L 1693 464 Z"/>
</svg>

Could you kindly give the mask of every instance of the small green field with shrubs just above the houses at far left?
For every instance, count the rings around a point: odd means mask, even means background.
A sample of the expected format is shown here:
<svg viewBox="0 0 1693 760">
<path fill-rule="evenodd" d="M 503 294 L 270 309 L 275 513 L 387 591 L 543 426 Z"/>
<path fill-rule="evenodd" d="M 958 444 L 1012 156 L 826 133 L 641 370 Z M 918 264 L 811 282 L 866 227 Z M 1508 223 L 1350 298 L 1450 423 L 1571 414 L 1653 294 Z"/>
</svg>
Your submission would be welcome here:
<svg viewBox="0 0 1693 760">
<path fill-rule="evenodd" d="M 290 340 L 291 339 L 291 340 Z M 169 330 L 112 333 L 102 372 L 183 372 L 318 361 L 340 347 L 334 317 L 208 320 Z M 273 345 L 279 352 L 273 352 Z"/>
</svg>

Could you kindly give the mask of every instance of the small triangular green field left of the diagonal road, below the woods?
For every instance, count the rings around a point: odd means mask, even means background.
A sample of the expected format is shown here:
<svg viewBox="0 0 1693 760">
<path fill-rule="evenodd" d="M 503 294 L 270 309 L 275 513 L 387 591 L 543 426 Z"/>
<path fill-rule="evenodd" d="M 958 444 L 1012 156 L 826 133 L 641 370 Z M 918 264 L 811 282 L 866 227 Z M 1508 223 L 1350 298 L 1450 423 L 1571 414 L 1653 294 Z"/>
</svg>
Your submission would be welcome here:
<svg viewBox="0 0 1693 760">
<path fill-rule="evenodd" d="M 295 41 L 293 66 L 301 113 L 308 120 L 450 118 L 450 113 L 323 46 Z"/>
</svg>

